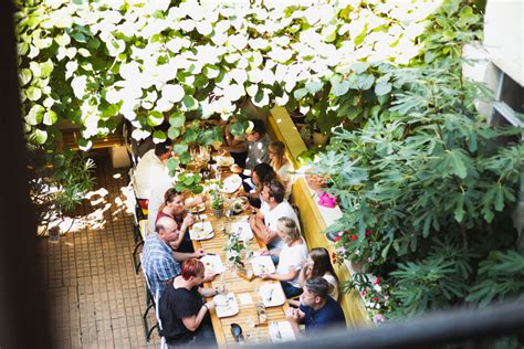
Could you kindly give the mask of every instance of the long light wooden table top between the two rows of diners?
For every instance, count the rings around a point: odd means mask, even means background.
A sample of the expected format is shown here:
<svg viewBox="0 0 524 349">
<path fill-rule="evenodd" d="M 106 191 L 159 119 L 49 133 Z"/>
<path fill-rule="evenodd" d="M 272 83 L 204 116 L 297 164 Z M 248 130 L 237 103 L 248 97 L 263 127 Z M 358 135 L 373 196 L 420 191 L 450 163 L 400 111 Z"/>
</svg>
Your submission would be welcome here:
<svg viewBox="0 0 524 349">
<path fill-rule="evenodd" d="M 197 248 L 205 248 L 208 253 L 216 253 L 220 256 L 222 264 L 227 267 L 228 260 L 226 256 L 224 246 L 228 242 L 228 236 L 219 229 L 220 225 L 224 225 L 226 231 L 230 230 L 231 223 L 234 221 L 245 219 L 245 214 L 241 215 L 233 215 L 227 222 L 226 216 L 217 219 L 211 213 L 209 208 L 209 201 L 207 202 L 206 209 L 207 219 L 213 225 L 214 236 L 210 240 L 203 241 L 193 241 L 193 247 Z M 218 226 L 219 225 L 219 226 Z M 254 235 L 254 234 L 253 234 Z M 256 236 L 253 236 L 250 241 L 249 248 L 252 252 L 256 252 L 265 247 L 265 244 L 262 241 L 259 241 Z M 247 261 L 243 261 L 247 265 L 250 264 Z M 223 279 L 222 279 L 223 278 Z M 268 315 L 268 320 L 264 326 L 253 326 L 254 322 L 258 322 L 255 303 L 260 299 L 258 295 L 258 287 L 261 286 L 263 283 L 279 283 L 275 281 L 262 281 L 261 278 L 255 277 L 251 282 L 238 276 L 234 271 L 231 268 L 227 268 L 222 275 L 217 275 L 211 283 L 208 283 L 206 286 L 208 287 L 216 287 L 220 286 L 222 281 L 226 284 L 228 290 L 234 293 L 237 303 L 239 304 L 239 314 L 231 316 L 231 317 L 217 317 L 214 310 L 211 310 L 211 320 L 213 325 L 214 336 L 217 337 L 217 343 L 219 347 L 232 347 L 238 346 L 239 343 L 235 342 L 232 334 L 231 334 L 231 324 L 235 322 L 242 327 L 242 334 L 244 336 L 245 343 L 259 343 L 259 342 L 271 342 L 270 338 L 270 324 L 272 321 L 286 321 L 285 319 L 285 309 L 289 307 L 287 300 L 282 306 L 276 307 L 269 307 L 265 309 Z M 280 283 L 279 283 L 280 287 Z M 239 300 L 239 294 L 249 294 L 252 298 L 252 303 L 248 305 L 242 305 Z M 209 298 L 211 299 L 211 298 Z M 208 300 L 209 300 L 208 299 Z"/>
</svg>

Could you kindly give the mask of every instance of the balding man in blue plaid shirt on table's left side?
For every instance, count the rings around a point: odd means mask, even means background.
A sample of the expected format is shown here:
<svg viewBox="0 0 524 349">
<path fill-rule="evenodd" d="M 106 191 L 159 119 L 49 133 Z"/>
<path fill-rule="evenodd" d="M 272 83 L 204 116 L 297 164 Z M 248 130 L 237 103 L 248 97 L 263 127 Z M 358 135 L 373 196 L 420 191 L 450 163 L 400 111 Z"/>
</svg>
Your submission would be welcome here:
<svg viewBox="0 0 524 349">
<path fill-rule="evenodd" d="M 180 275 L 179 262 L 206 255 L 203 250 L 198 250 L 195 253 L 174 251 L 170 243 L 177 241 L 178 235 L 179 231 L 175 220 L 164 216 L 157 222 L 156 233 L 149 234 L 144 242 L 142 267 L 149 279 L 153 295 L 157 289 L 161 295 L 166 284 L 172 283 L 174 277 Z"/>
</svg>

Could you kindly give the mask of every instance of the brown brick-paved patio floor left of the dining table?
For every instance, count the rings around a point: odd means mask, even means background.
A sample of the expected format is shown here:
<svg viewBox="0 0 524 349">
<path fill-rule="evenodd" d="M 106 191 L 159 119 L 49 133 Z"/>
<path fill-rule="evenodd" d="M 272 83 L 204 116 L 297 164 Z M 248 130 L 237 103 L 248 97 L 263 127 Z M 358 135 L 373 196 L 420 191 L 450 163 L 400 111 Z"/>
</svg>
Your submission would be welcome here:
<svg viewBox="0 0 524 349">
<path fill-rule="evenodd" d="M 147 343 L 142 322 L 145 282 L 142 272 L 135 274 L 133 268 L 133 215 L 126 212 L 120 191 L 128 183 L 128 169 L 113 169 L 107 156 L 94 159 L 94 191 L 102 189 L 102 194 L 92 195 L 75 212 L 88 226 L 69 232 L 59 242 L 41 240 L 55 345 L 158 348 L 157 331 Z"/>
</svg>

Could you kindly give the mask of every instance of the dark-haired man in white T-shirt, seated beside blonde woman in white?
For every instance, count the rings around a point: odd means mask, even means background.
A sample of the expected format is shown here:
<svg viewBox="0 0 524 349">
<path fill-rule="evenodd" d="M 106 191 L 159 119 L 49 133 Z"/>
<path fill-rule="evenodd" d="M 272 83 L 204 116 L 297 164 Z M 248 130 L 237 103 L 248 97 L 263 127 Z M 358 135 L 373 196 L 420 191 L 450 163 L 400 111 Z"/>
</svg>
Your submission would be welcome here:
<svg viewBox="0 0 524 349">
<path fill-rule="evenodd" d="M 287 216 L 295 221 L 298 231 L 301 226 L 295 211 L 284 195 L 285 188 L 282 182 L 276 179 L 265 182 L 261 194 L 262 207 L 260 210 L 253 209 L 256 213 L 250 218 L 253 233 L 268 245 L 272 256 L 277 255 L 275 250 L 284 247 L 284 241 L 277 233 L 279 219 Z M 273 262 L 277 263 L 277 258 L 273 258 Z"/>
</svg>

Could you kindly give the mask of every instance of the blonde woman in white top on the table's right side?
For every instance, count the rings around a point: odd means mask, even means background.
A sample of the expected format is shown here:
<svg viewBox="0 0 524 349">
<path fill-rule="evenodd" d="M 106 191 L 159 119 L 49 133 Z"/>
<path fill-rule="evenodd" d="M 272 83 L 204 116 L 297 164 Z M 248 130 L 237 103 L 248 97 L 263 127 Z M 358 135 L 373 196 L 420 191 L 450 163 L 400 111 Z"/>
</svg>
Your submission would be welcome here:
<svg viewBox="0 0 524 349">
<path fill-rule="evenodd" d="M 280 256 L 276 273 L 261 275 L 262 279 L 277 279 L 282 284 L 284 294 L 292 298 L 302 294 L 298 284 L 300 271 L 307 260 L 307 245 L 302 239 L 296 223 L 287 216 L 280 218 L 276 223 L 279 236 L 285 245 L 282 250 L 264 251 L 263 254 L 277 254 Z"/>
</svg>

